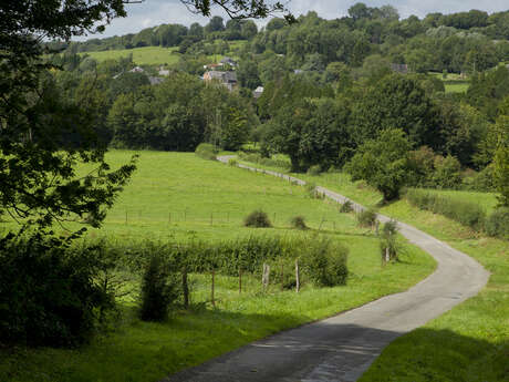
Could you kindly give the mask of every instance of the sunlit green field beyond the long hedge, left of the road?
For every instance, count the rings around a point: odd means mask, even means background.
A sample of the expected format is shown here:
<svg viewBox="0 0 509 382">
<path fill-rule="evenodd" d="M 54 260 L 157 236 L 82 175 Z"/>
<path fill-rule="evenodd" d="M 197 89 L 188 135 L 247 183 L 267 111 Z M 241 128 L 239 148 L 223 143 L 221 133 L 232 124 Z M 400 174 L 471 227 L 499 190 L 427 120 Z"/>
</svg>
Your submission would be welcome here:
<svg viewBox="0 0 509 382">
<path fill-rule="evenodd" d="M 107 159 L 115 167 L 134 152 L 115 151 Z M 138 169 L 101 230 L 93 235 L 128 238 L 156 237 L 180 240 L 198 237 L 229 239 L 260 234 L 241 228 L 257 208 L 269 214 L 274 228 L 284 234 L 295 215 L 311 228 L 345 235 L 363 234 L 353 216 L 339 214 L 337 205 L 316 200 L 302 187 L 260 174 L 204 161 L 190 153 L 141 152 Z M 126 220 L 127 217 L 127 220 Z"/>
</svg>

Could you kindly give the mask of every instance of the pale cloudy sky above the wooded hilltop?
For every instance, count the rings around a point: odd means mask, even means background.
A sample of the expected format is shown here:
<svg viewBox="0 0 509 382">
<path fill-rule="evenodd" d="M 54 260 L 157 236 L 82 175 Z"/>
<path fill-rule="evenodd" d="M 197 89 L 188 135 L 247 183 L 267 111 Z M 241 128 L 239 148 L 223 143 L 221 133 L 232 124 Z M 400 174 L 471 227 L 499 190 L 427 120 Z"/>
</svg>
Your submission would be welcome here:
<svg viewBox="0 0 509 382">
<path fill-rule="evenodd" d="M 288 7 L 295 16 L 314 10 L 322 18 L 335 19 L 346 16 L 347 9 L 356 2 L 359 0 L 291 0 Z M 470 9 L 498 12 L 509 9 L 507 0 L 364 0 L 362 2 L 368 7 L 391 4 L 399 11 L 403 18 L 407 18 L 411 14 L 423 18 L 429 12 L 451 13 L 469 11 Z M 193 14 L 179 0 L 145 0 L 143 3 L 126 7 L 127 18 L 113 20 L 102 35 L 94 37 L 135 33 L 144 28 L 162 23 L 180 23 L 184 25 L 189 25 L 195 21 L 201 24 L 207 23 L 206 18 Z M 218 10 L 216 10 L 215 14 L 224 16 Z M 259 25 L 264 22 L 258 21 Z"/>
</svg>

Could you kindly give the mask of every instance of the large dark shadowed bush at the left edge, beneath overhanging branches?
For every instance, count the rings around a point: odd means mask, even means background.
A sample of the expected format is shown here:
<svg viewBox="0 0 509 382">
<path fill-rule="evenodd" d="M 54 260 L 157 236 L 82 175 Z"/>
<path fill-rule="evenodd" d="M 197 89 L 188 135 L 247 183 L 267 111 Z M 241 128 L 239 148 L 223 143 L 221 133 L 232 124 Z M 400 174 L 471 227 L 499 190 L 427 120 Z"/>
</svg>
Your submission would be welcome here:
<svg viewBox="0 0 509 382">
<path fill-rule="evenodd" d="M 35 233 L 0 240 L 0 342 L 73 347 L 96 328 L 95 311 L 112 297 L 94 282 L 93 248 Z"/>
</svg>

